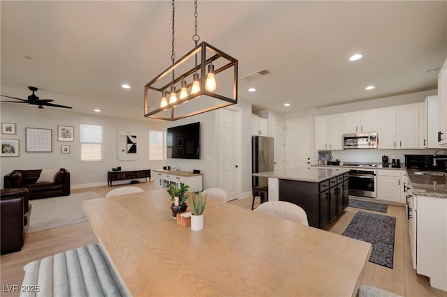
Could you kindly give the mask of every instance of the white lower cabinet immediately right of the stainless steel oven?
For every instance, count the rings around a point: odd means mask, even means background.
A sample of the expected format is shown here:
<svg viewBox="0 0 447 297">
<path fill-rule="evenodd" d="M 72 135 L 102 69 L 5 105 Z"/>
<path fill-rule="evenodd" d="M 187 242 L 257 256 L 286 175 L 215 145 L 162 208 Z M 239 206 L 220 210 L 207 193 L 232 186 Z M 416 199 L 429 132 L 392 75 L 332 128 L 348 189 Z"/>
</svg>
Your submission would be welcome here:
<svg viewBox="0 0 447 297">
<path fill-rule="evenodd" d="M 377 195 L 376 199 L 403 203 L 400 187 L 401 170 L 377 169 Z"/>
</svg>

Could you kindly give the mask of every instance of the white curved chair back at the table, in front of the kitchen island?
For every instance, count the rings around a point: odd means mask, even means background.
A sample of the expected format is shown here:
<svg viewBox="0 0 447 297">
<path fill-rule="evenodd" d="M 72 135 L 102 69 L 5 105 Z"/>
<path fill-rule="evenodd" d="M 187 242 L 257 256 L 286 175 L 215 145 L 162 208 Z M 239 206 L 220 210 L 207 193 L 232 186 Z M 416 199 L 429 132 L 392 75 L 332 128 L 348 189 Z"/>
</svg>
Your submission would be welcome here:
<svg viewBox="0 0 447 297">
<path fill-rule="evenodd" d="M 256 207 L 254 211 L 309 226 L 304 209 L 290 202 L 267 201 Z"/>
</svg>

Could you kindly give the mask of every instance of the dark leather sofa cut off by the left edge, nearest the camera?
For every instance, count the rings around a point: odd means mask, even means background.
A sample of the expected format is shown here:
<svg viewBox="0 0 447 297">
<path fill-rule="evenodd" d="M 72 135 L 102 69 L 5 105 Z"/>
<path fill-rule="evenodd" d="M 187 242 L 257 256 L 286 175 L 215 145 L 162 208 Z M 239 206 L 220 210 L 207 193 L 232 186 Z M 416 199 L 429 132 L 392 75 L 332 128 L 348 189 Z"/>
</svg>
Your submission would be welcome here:
<svg viewBox="0 0 447 297">
<path fill-rule="evenodd" d="M 22 250 L 31 217 L 28 195 L 27 188 L 0 192 L 1 254 Z"/>
</svg>

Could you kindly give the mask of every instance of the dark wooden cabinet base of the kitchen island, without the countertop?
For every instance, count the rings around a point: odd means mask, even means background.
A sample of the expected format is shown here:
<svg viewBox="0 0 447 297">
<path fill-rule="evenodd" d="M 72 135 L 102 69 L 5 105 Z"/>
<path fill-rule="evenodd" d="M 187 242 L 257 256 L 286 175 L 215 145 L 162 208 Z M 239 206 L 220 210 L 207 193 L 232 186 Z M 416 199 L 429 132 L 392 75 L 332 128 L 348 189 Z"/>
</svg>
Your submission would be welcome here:
<svg viewBox="0 0 447 297">
<path fill-rule="evenodd" d="M 279 179 L 279 200 L 301 206 L 309 226 L 324 229 L 348 206 L 348 174 L 320 183 Z"/>
</svg>

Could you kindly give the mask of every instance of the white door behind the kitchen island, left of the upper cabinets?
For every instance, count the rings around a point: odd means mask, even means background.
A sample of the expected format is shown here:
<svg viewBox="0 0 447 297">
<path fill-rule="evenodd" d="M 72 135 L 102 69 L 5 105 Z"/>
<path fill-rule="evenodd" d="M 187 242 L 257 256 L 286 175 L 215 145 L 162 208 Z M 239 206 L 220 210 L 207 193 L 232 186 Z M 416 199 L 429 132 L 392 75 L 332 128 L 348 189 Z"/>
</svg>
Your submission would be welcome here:
<svg viewBox="0 0 447 297">
<path fill-rule="evenodd" d="M 312 119 L 286 121 L 287 168 L 310 166 L 312 158 Z"/>
</svg>

